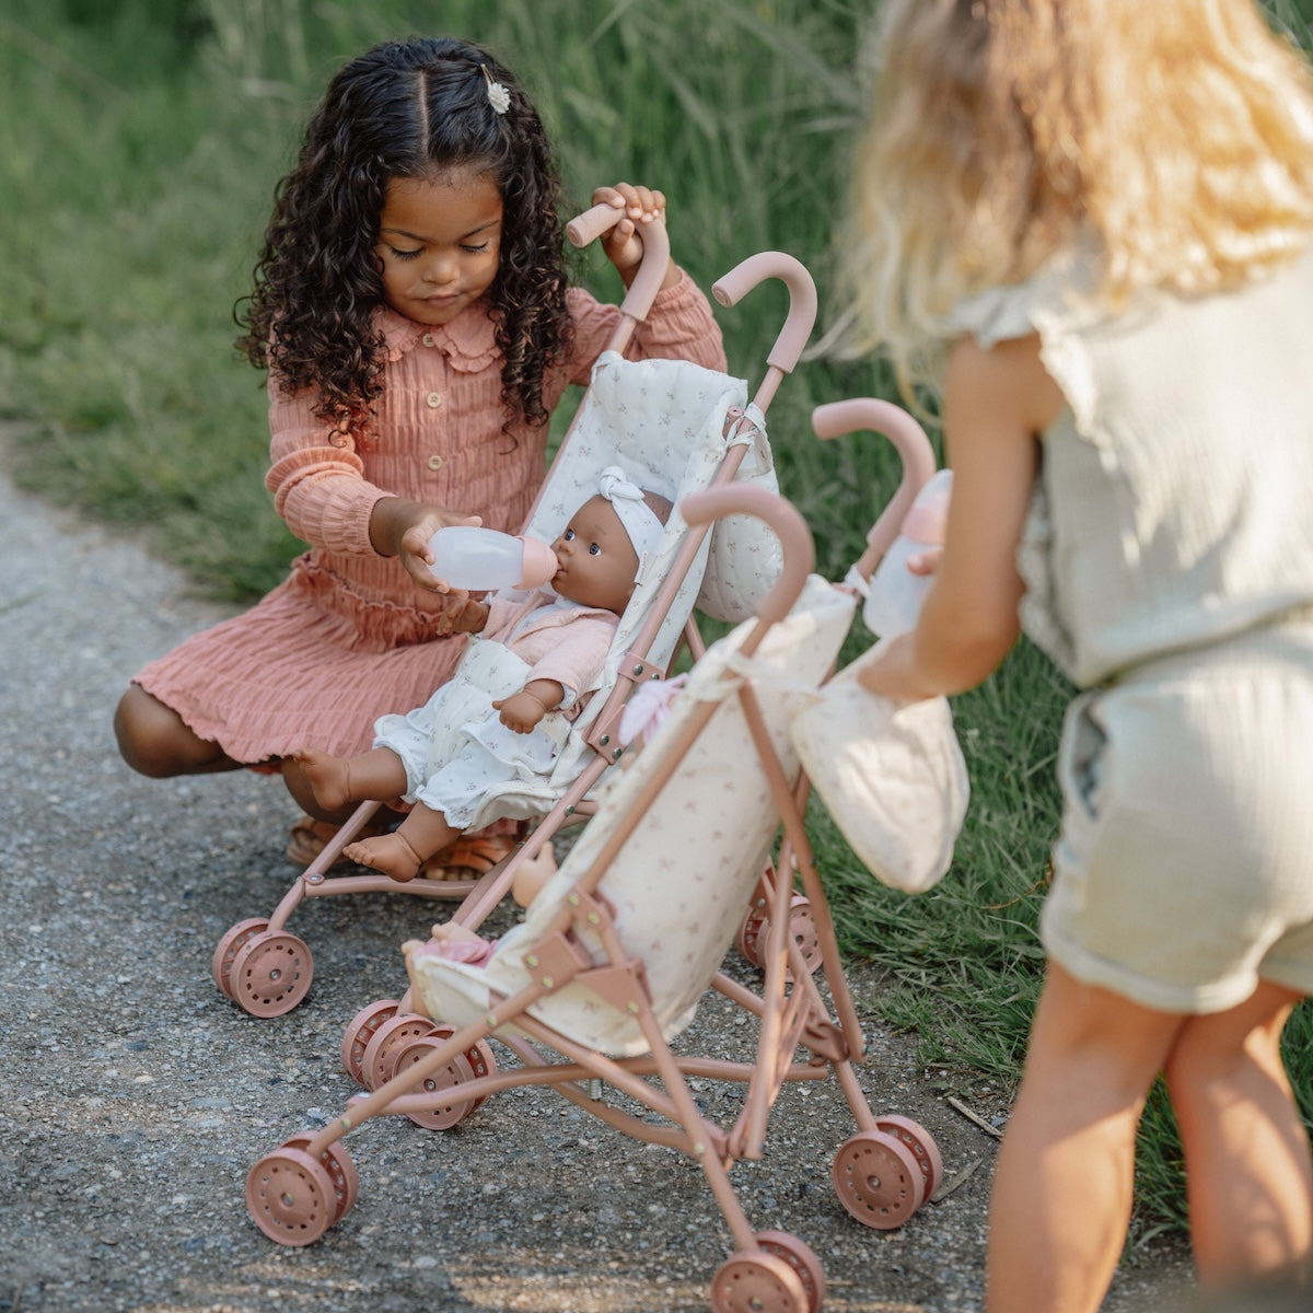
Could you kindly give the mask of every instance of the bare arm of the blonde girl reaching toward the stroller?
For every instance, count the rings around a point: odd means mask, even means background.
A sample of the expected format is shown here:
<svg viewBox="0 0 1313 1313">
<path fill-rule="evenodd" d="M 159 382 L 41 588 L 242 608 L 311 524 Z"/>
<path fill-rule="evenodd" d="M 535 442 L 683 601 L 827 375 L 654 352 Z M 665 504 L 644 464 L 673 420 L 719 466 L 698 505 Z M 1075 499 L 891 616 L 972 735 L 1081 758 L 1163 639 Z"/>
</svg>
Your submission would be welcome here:
<svg viewBox="0 0 1313 1313">
<path fill-rule="evenodd" d="M 898 699 L 961 693 L 1003 662 L 1020 632 L 1016 572 L 1039 437 L 1062 407 L 1035 336 L 986 351 L 953 348 L 944 439 L 953 470 L 944 554 L 916 628 L 861 672 L 872 692 Z"/>
</svg>

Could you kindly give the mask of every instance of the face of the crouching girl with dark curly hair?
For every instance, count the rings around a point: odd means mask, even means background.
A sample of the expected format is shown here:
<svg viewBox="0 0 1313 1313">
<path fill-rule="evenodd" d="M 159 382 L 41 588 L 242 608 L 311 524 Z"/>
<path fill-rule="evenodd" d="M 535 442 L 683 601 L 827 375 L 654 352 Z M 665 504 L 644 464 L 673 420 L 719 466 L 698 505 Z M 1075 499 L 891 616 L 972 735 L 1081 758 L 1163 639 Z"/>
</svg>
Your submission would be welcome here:
<svg viewBox="0 0 1313 1313">
<path fill-rule="evenodd" d="M 399 315 L 449 324 L 492 286 L 500 251 L 502 193 L 487 175 L 387 184 L 374 253 L 383 297 Z"/>
</svg>

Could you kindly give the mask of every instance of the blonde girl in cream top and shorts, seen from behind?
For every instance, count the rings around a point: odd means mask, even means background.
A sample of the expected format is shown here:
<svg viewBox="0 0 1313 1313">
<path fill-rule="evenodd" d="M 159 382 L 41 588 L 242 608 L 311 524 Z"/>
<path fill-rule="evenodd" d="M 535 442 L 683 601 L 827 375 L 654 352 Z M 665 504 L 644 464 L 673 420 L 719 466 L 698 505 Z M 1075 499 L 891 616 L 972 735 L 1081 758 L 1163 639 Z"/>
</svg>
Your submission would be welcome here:
<svg viewBox="0 0 1313 1313">
<path fill-rule="evenodd" d="M 939 389 L 916 629 L 1079 687 L 990 1313 L 1092 1313 L 1163 1073 L 1213 1287 L 1309 1280 L 1279 1043 L 1313 991 L 1313 85 L 1251 0 L 892 0 L 846 234 L 852 349 Z"/>
</svg>

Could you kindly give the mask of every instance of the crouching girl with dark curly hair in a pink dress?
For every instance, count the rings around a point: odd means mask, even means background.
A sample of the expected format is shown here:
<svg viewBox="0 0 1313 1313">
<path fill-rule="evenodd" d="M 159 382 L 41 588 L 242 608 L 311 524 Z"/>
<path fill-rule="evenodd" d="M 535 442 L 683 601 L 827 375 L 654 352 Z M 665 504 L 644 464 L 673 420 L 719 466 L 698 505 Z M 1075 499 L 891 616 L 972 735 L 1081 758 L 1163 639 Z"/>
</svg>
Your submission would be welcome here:
<svg viewBox="0 0 1313 1313">
<path fill-rule="evenodd" d="M 135 676 L 114 721 L 131 767 L 281 768 L 303 801 L 294 748 L 358 752 L 378 716 L 449 678 L 481 608 L 441 591 L 428 540 L 521 528 L 550 412 L 618 323 L 569 286 L 559 190 L 532 102 L 475 45 L 383 42 L 332 79 L 277 186 L 238 341 L 269 370 L 265 482 L 310 551 Z M 621 183 L 593 204 L 624 209 L 603 248 L 628 286 L 664 197 Z M 676 265 L 629 355 L 725 368 Z M 340 819 L 303 818 L 289 856 L 310 861 Z M 500 847 L 439 860 L 478 868 Z"/>
</svg>

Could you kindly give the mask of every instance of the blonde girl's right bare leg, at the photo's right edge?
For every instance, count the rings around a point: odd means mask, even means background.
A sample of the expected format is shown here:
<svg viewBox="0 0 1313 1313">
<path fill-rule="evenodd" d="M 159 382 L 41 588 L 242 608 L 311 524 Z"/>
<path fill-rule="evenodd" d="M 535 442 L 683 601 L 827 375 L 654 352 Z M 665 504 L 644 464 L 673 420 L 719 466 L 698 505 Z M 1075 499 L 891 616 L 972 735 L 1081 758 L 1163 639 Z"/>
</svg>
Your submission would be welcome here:
<svg viewBox="0 0 1313 1313">
<path fill-rule="evenodd" d="M 1297 999 L 1259 983 L 1238 1007 L 1190 1018 L 1167 1058 L 1208 1285 L 1313 1275 L 1313 1163 L 1280 1053 Z"/>
</svg>

